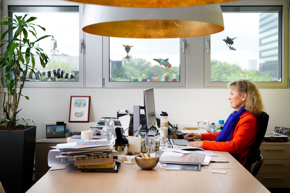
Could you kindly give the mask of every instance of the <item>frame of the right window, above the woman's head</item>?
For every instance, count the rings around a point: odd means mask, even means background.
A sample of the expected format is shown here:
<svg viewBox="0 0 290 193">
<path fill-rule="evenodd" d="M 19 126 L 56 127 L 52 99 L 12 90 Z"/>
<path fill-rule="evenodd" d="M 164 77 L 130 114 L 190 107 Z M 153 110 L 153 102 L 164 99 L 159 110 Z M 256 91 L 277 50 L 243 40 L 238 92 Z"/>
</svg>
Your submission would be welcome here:
<svg viewBox="0 0 290 193">
<path fill-rule="evenodd" d="M 235 1 L 223 3 L 221 6 L 275 6 L 282 7 L 282 82 L 255 82 L 260 88 L 288 88 L 289 87 L 289 52 L 288 52 L 288 32 L 289 32 L 289 13 L 286 0 L 253 0 Z M 204 36 L 204 87 L 226 87 L 229 82 L 211 82 L 210 77 L 210 35 Z M 207 51 L 208 50 L 208 51 Z"/>
</svg>

